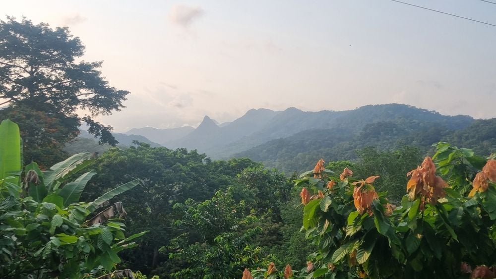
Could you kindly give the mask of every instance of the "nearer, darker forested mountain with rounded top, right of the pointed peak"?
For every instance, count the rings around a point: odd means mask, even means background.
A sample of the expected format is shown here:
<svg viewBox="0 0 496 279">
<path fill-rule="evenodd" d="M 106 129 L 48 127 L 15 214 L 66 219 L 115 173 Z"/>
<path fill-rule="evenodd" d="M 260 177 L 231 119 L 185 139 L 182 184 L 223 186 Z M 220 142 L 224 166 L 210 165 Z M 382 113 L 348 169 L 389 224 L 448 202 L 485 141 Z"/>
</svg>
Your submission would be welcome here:
<svg viewBox="0 0 496 279">
<path fill-rule="evenodd" d="M 352 160 L 357 149 L 368 146 L 398 149 L 401 145 L 413 145 L 427 153 L 438 141 L 463 141 L 461 135 L 466 130 L 473 131 L 472 126 L 479 122 L 469 116 L 446 116 L 405 105 L 365 106 L 342 113 L 328 127 L 270 140 L 234 156 L 249 157 L 286 172 L 300 171 L 311 168 L 320 158 Z M 489 142 L 493 135 L 492 129 L 485 129 L 481 138 Z M 494 150 L 495 145 L 492 147 Z"/>
</svg>

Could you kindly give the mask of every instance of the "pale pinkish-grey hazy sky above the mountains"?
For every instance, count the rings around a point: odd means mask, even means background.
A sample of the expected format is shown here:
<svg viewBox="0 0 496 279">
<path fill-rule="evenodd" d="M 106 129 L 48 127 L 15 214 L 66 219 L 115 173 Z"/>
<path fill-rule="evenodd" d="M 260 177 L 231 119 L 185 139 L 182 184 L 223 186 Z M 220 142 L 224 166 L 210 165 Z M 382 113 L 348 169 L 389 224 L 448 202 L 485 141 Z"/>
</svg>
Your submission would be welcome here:
<svg viewBox="0 0 496 279">
<path fill-rule="evenodd" d="M 481 0 L 404 0 L 496 24 Z M 495 0 L 496 2 L 496 0 Z M 496 117 L 496 27 L 391 0 L 0 0 L 67 26 L 126 108 L 116 132 L 232 121 L 249 109 L 402 103 Z"/>
</svg>

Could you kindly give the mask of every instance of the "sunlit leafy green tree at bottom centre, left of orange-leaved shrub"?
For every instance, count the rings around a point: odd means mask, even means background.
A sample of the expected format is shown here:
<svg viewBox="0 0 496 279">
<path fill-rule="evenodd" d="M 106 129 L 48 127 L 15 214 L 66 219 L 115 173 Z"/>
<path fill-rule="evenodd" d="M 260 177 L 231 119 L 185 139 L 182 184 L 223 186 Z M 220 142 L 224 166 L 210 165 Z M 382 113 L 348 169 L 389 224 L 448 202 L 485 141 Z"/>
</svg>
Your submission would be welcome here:
<svg viewBox="0 0 496 279">
<path fill-rule="evenodd" d="M 264 262 L 261 247 L 252 242 L 262 228 L 244 201 L 233 199 L 233 189 L 218 191 L 211 200 L 176 204 L 182 212 L 176 221 L 184 233 L 174 241 L 171 259 L 186 267 L 172 274 L 175 278 L 237 278 L 247 266 Z"/>
</svg>

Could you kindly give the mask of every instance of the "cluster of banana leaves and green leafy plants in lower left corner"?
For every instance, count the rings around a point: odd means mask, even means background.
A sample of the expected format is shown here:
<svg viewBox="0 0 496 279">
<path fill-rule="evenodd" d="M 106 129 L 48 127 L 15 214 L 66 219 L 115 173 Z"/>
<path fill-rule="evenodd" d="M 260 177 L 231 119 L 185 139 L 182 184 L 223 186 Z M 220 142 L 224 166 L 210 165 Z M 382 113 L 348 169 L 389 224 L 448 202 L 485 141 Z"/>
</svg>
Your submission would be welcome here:
<svg viewBox="0 0 496 279">
<path fill-rule="evenodd" d="M 0 136 L 12 139 L 0 144 L 0 277 L 83 278 L 112 271 L 121 261 L 117 253 L 133 247 L 132 240 L 144 232 L 126 238 L 124 223 L 110 219 L 114 213 L 99 222 L 85 221 L 96 209 L 95 202 L 116 194 L 89 204 L 78 202 L 95 173 L 86 172 L 71 182 L 67 179 L 87 166 L 91 155 L 74 155 L 46 172 L 31 163 L 21 182 L 17 125 L 3 120 Z M 3 156 L 6 151 L 8 158 Z M 131 181 L 127 188 L 137 184 Z M 125 217 L 122 206 L 116 214 Z"/>
</svg>

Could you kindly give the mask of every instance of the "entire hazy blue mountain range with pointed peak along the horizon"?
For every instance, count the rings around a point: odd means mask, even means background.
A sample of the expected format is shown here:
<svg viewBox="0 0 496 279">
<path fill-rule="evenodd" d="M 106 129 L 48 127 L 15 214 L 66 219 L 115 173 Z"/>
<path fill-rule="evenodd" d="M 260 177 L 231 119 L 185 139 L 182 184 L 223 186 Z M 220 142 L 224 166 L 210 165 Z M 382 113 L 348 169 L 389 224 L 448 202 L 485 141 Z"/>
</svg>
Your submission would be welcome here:
<svg viewBox="0 0 496 279">
<path fill-rule="evenodd" d="M 170 149 L 196 149 L 212 159 L 249 157 L 291 171 L 308 167 L 313 157 L 353 159 L 354 150 L 365 146 L 408 144 L 427 151 L 439 140 L 463 138 L 463 130 L 474 121 L 402 104 L 320 112 L 252 109 L 222 124 L 205 116 L 196 128 L 143 127 L 115 135 L 124 145 L 134 139 Z"/>
</svg>

